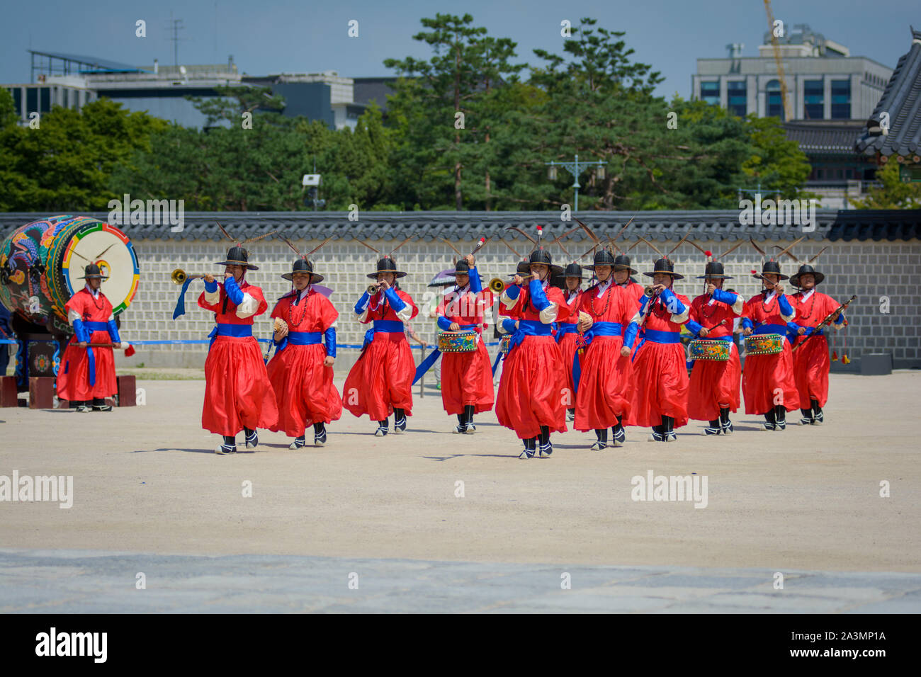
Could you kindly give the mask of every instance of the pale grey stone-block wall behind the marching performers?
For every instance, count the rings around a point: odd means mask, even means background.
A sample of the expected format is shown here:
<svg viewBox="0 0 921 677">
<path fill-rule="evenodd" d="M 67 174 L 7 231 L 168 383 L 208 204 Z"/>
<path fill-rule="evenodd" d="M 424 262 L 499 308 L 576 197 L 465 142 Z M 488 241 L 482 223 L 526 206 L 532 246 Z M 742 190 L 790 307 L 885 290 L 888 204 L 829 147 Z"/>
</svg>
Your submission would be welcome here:
<svg viewBox="0 0 921 677">
<path fill-rule="evenodd" d="M 295 244 L 301 251 L 309 251 L 319 242 L 300 240 Z M 368 244 L 380 251 L 389 251 L 393 247 L 392 241 L 370 240 Z M 698 244 L 705 249 L 719 252 L 727 250 L 733 243 L 699 241 Z M 789 242 L 760 243 L 765 249 L 774 244 L 787 246 Z M 827 242 L 804 242 L 799 245 L 797 253 L 805 260 L 819 251 L 824 244 Z M 135 239 L 134 248 L 141 267 L 141 281 L 134 303 L 122 314 L 122 337 L 127 341 L 188 340 L 206 337 L 214 326 L 214 320 L 213 315 L 196 305 L 203 284 L 199 281 L 192 282 L 186 295 L 186 315 L 173 321 L 172 309 L 178 298 L 179 287 L 171 284 L 169 274 L 174 268 L 182 268 L 193 274 L 219 272 L 221 268 L 214 262 L 224 258 L 225 245 L 226 243 L 218 241 Z M 519 251 L 524 249 L 520 240 L 514 246 Z M 667 245 L 668 248 L 671 246 L 671 243 Z M 584 249 L 584 242 L 579 242 L 578 250 Z M 630 253 L 634 257 L 634 267 L 641 272 L 651 270 L 652 260 L 658 257 L 642 242 Z M 415 299 L 417 305 L 422 307 L 426 300 L 431 298 L 426 295 L 437 291 L 427 288 L 426 284 L 438 271 L 452 267 L 453 255 L 453 251 L 450 251 L 447 245 L 437 240 L 414 240 L 405 244 L 396 253 L 398 265 L 409 273 L 402 278 L 402 289 Z M 562 251 L 554 251 L 554 261 L 562 256 Z M 375 254 L 354 240 L 333 240 L 323 247 L 316 257 L 311 258 L 315 258 L 317 272 L 325 275 L 325 280 L 321 284 L 334 290 L 331 299 L 341 314 L 338 328 L 339 343 L 360 344 L 367 327 L 354 321 L 352 307 L 368 284 L 367 273 L 375 268 Z M 685 279 L 676 283 L 676 290 L 691 298 L 702 293 L 702 281 L 693 279 L 693 276 L 703 274 L 703 255 L 685 244 L 672 258 L 677 262 L 676 271 L 685 275 Z M 281 242 L 262 241 L 253 245 L 252 261 L 260 266 L 260 270 L 249 273 L 248 279 L 252 284 L 262 286 L 265 297 L 270 301 L 270 308 L 274 300 L 290 288 L 290 283 L 283 280 L 280 275 L 290 270 L 292 259 L 293 253 Z M 750 246 L 743 245 L 723 261 L 727 265 L 727 274 L 736 278 L 730 280 L 728 286 L 736 289 L 745 298 L 760 290 L 759 282 L 753 280 L 749 272 L 752 268 L 760 270 L 761 257 Z M 515 265 L 507 248 L 495 240 L 487 243 L 478 262 L 480 272 L 484 276 L 484 286 L 492 277 L 506 278 Z M 846 335 L 846 347 L 852 364 L 845 367 L 839 361 L 833 363 L 834 369 L 858 370 L 860 355 L 871 352 L 891 352 L 896 368 L 921 367 L 921 352 L 918 347 L 921 337 L 919 263 L 921 242 L 918 240 L 838 240 L 831 243 L 829 249 L 822 254 L 815 263 L 817 269 L 826 274 L 826 280 L 820 286 L 820 290 L 839 301 L 857 294 L 857 301 L 848 309 L 850 326 L 843 333 L 834 335 L 834 346 L 839 356 L 843 352 Z M 782 267 L 785 274 L 793 274 L 798 265 L 785 258 Z M 790 290 L 792 291 L 792 288 Z M 887 302 L 888 312 L 884 312 Z M 426 340 L 434 339 L 433 320 L 419 317 L 413 322 L 413 326 Z M 268 337 L 270 332 L 271 322 L 266 313 L 256 321 L 255 334 L 259 337 Z M 205 344 L 138 347 L 134 357 L 122 357 L 120 363 L 136 365 L 143 362 L 147 367 L 201 367 L 204 365 L 207 349 Z M 495 348 L 490 349 L 491 353 L 494 351 Z M 358 351 L 355 349 L 341 350 L 337 359 L 337 371 L 349 368 L 357 355 Z M 417 346 L 414 346 L 414 355 L 417 358 L 419 356 Z"/>
</svg>

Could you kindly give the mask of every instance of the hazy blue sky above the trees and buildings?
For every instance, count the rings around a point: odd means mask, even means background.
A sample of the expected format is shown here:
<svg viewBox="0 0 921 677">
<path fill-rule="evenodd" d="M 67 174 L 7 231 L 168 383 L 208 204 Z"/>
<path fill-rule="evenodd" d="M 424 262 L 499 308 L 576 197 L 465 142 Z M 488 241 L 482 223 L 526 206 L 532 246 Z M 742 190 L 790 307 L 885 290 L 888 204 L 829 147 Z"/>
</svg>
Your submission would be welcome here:
<svg viewBox="0 0 921 677">
<path fill-rule="evenodd" d="M 921 28 L 918 0 L 775 0 L 775 18 L 787 26 L 809 24 L 826 38 L 894 67 L 911 43 L 909 24 Z M 29 81 L 32 49 L 94 55 L 128 64 L 173 63 L 170 11 L 181 18 L 181 64 L 224 63 L 228 54 L 241 71 L 266 75 L 281 71 L 338 71 L 341 76 L 386 76 L 388 57 L 426 58 L 426 45 L 413 40 L 419 19 L 437 12 L 469 13 L 495 37 L 519 44 L 519 62 L 539 63 L 531 50 L 562 52 L 560 22 L 599 19 L 624 30 L 635 59 L 652 64 L 665 81 L 658 93 L 690 94 L 695 59 L 722 57 L 729 42 L 745 44 L 754 56 L 767 28 L 762 0 L 84 0 L 7 3 L 0 29 L 0 83 Z M 134 36 L 134 22 L 146 20 L 146 38 Z M 347 36 L 348 21 L 359 24 Z"/>
</svg>

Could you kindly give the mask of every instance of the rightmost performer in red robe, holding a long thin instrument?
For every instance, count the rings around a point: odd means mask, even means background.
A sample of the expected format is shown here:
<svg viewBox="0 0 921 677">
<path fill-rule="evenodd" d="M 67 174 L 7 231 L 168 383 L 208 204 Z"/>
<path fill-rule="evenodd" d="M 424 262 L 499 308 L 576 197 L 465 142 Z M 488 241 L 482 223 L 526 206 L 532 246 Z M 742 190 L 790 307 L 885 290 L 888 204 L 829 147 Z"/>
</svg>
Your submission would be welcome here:
<svg viewBox="0 0 921 677">
<path fill-rule="evenodd" d="M 828 359 L 828 339 L 825 330 L 817 335 L 815 328 L 841 305 L 834 298 L 815 287 L 822 284 L 825 275 L 809 263 L 799 266 L 799 273 L 790 278 L 790 284 L 799 287 L 793 295 L 793 309 L 796 321 L 787 322 L 787 328 L 794 336 L 794 346 L 804 344 L 793 353 L 793 372 L 799 392 L 800 426 L 821 426 L 824 421 L 822 407 L 828 402 L 828 372 L 832 363 Z M 846 325 L 845 314 L 838 312 L 831 327 L 837 331 Z M 813 336 L 814 338 L 809 338 Z M 805 405 L 809 403 L 807 408 Z"/>
</svg>

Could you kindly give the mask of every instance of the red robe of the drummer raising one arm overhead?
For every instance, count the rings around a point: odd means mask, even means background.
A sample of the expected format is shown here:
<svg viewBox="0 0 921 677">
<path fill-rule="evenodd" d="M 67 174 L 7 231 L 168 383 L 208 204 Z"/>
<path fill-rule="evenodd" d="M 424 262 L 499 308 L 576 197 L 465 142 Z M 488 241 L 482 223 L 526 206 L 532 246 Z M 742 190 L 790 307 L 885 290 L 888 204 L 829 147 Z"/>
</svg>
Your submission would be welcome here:
<svg viewBox="0 0 921 677">
<path fill-rule="evenodd" d="M 474 274 L 473 272 L 471 274 Z M 484 323 L 484 301 L 472 291 L 459 297 L 449 291 L 438 304 L 438 315 L 450 322 L 464 324 Z M 488 412 L 493 408 L 493 369 L 489 353 L 483 343 L 483 329 L 477 326 L 476 350 L 471 353 L 442 353 L 441 403 L 448 414 L 463 414 L 463 408 L 473 405 L 473 413 Z"/>
</svg>

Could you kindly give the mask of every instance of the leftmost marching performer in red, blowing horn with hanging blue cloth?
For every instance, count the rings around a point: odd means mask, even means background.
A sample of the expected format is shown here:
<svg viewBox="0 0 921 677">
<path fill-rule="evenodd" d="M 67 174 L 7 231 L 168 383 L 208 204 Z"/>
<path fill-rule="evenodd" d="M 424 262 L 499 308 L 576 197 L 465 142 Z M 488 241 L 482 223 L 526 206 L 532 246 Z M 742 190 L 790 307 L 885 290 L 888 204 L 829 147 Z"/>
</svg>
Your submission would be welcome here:
<svg viewBox="0 0 921 677">
<path fill-rule="evenodd" d="M 198 305 L 215 313 L 217 326 L 209 334 L 211 345 L 204 361 L 204 406 L 202 427 L 223 436 L 215 452 L 237 451 L 237 433 L 245 433 L 244 450 L 251 453 L 259 444 L 256 428 L 271 428 L 278 420 L 275 393 L 265 371 L 259 344 L 252 336 L 252 322 L 268 304 L 262 289 L 244 279 L 246 271 L 259 270 L 249 263 L 249 252 L 231 247 L 224 282 L 204 276 L 204 292 Z"/>
</svg>

